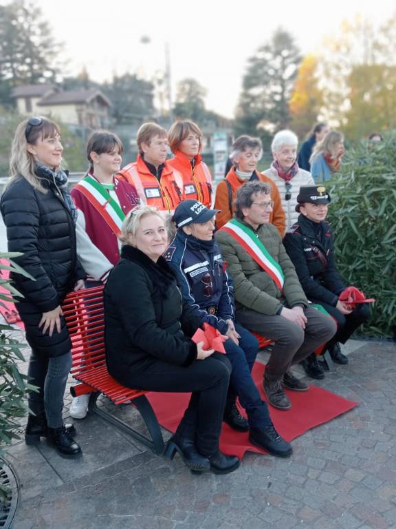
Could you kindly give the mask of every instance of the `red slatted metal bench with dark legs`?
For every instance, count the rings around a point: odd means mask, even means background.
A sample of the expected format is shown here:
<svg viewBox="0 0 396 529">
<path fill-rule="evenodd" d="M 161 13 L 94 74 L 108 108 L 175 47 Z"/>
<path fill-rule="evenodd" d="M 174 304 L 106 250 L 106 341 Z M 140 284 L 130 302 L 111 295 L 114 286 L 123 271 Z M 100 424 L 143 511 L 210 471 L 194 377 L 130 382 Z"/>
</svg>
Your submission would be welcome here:
<svg viewBox="0 0 396 529">
<path fill-rule="evenodd" d="M 89 411 L 118 426 L 154 453 L 164 451 L 164 439 L 157 417 L 146 398 L 146 391 L 118 384 L 107 371 L 104 355 L 103 286 L 83 289 L 67 295 L 62 306 L 67 329 L 72 340 L 73 377 L 79 382 L 70 391 L 74 397 L 91 393 Z M 115 404 L 133 404 L 140 412 L 151 437 L 146 437 L 129 424 L 111 415 L 104 406 L 97 406 L 100 393 Z"/>
</svg>

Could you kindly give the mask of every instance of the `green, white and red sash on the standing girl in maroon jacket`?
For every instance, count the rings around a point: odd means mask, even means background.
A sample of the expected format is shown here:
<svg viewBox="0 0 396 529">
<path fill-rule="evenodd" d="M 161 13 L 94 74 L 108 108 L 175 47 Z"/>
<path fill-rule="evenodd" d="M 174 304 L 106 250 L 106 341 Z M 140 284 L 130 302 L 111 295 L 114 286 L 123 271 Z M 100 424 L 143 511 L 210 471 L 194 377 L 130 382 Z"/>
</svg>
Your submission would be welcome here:
<svg viewBox="0 0 396 529">
<path fill-rule="evenodd" d="M 89 174 L 76 185 L 76 189 L 89 200 L 113 233 L 119 236 L 125 214 L 109 192 Z"/>
</svg>

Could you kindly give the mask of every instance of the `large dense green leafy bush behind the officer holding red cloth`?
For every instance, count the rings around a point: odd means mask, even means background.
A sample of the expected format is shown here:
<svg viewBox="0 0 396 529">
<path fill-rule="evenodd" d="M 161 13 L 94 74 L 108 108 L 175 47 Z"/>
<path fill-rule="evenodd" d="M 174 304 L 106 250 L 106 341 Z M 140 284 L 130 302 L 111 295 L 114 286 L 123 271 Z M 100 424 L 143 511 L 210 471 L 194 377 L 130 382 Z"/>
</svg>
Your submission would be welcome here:
<svg viewBox="0 0 396 529">
<path fill-rule="evenodd" d="M 376 302 L 364 334 L 395 337 L 396 136 L 360 143 L 331 181 L 329 221 L 340 273 Z"/>
</svg>

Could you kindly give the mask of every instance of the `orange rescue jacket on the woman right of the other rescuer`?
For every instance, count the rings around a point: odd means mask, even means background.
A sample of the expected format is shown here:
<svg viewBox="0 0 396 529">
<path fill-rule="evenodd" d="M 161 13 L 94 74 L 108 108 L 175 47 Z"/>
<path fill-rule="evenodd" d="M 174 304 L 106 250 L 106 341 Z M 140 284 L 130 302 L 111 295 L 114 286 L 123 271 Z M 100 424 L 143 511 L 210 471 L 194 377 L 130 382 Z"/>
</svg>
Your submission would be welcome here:
<svg viewBox="0 0 396 529">
<path fill-rule="evenodd" d="M 212 175 L 201 156 L 195 156 L 195 165 L 192 167 L 190 159 L 176 151 L 175 158 L 169 160 L 169 164 L 183 177 L 183 200 L 199 200 L 206 207 L 212 207 Z"/>
</svg>

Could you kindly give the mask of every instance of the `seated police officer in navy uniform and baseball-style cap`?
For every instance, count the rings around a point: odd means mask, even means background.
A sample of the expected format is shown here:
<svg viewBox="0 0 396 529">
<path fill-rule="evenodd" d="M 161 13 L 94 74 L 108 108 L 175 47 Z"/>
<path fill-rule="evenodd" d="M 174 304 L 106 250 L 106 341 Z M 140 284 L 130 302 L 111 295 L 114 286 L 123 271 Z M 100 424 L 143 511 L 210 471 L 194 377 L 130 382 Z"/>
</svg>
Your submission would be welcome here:
<svg viewBox="0 0 396 529">
<path fill-rule="evenodd" d="M 252 444 L 278 457 L 292 454 L 292 446 L 276 432 L 267 404 L 252 380 L 252 367 L 259 351 L 254 336 L 234 320 L 234 287 L 221 250 L 214 241 L 214 216 L 197 200 L 184 200 L 175 209 L 177 234 L 164 254 L 175 271 L 184 300 L 197 315 L 223 335 L 225 352 L 232 364 L 230 389 L 223 420 L 237 431 L 248 431 Z M 236 407 L 236 397 L 248 420 Z"/>
</svg>

